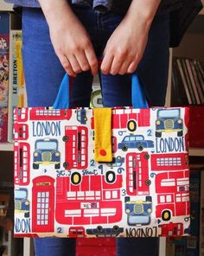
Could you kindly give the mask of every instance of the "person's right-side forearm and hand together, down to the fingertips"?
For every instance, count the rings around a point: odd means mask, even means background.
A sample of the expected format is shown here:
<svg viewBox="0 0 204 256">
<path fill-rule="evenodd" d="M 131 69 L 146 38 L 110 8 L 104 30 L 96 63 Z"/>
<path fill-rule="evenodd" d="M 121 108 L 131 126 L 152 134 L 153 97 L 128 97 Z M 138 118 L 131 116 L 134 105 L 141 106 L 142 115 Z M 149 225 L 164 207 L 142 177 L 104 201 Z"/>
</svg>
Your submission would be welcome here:
<svg viewBox="0 0 204 256">
<path fill-rule="evenodd" d="M 105 46 L 100 67 L 103 74 L 126 74 L 136 70 L 143 57 L 150 24 L 159 3 L 160 0 L 132 1 L 126 16 Z"/>
</svg>

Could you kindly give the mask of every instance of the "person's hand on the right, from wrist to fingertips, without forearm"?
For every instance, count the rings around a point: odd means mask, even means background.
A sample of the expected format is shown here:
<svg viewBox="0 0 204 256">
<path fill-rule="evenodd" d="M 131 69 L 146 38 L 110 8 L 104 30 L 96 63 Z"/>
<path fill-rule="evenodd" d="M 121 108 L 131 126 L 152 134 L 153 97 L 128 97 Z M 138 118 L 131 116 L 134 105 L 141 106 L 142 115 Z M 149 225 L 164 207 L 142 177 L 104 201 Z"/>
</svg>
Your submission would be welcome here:
<svg viewBox="0 0 204 256">
<path fill-rule="evenodd" d="M 133 73 L 143 56 L 148 29 L 142 24 L 132 24 L 125 19 L 108 40 L 101 63 L 103 74 Z"/>
</svg>

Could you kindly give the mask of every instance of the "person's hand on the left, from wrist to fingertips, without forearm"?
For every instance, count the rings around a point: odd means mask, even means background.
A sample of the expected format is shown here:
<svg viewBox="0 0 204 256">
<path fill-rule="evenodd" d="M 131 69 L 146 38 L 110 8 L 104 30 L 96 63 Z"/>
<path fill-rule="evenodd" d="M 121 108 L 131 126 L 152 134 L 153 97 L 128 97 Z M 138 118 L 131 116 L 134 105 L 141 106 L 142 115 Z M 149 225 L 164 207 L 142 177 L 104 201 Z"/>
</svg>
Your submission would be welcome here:
<svg viewBox="0 0 204 256">
<path fill-rule="evenodd" d="M 77 19 L 73 24 L 69 27 L 60 22 L 49 27 L 54 51 L 67 74 L 75 76 L 91 69 L 94 75 L 98 71 L 98 61 L 89 35 Z"/>
</svg>

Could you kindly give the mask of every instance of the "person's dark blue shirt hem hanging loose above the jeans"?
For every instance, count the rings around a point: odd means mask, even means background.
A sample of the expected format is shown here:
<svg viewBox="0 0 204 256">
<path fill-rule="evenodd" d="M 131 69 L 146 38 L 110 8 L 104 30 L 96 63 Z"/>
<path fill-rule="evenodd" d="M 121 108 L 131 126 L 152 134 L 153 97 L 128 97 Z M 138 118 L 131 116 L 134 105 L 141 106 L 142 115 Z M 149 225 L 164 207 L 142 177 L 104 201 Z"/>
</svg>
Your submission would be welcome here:
<svg viewBox="0 0 204 256">
<path fill-rule="evenodd" d="M 37 0 L 4 0 L 8 3 L 24 7 L 41 7 Z M 125 14 L 132 0 L 67 0 L 71 4 L 88 4 L 96 10 L 111 10 L 118 14 Z M 186 29 L 202 8 L 201 0 L 162 0 L 156 15 L 168 15 L 170 47 L 177 47 Z"/>
</svg>

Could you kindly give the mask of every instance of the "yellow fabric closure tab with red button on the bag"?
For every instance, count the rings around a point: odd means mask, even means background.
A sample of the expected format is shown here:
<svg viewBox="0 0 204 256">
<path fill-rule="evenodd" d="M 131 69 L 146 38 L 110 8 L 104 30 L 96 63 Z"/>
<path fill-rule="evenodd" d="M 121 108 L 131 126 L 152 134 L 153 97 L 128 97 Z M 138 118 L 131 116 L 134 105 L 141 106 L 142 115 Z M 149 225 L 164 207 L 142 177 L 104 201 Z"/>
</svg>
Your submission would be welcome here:
<svg viewBox="0 0 204 256">
<path fill-rule="evenodd" d="M 94 160 L 112 162 L 112 109 L 93 108 L 94 116 Z"/>
</svg>

